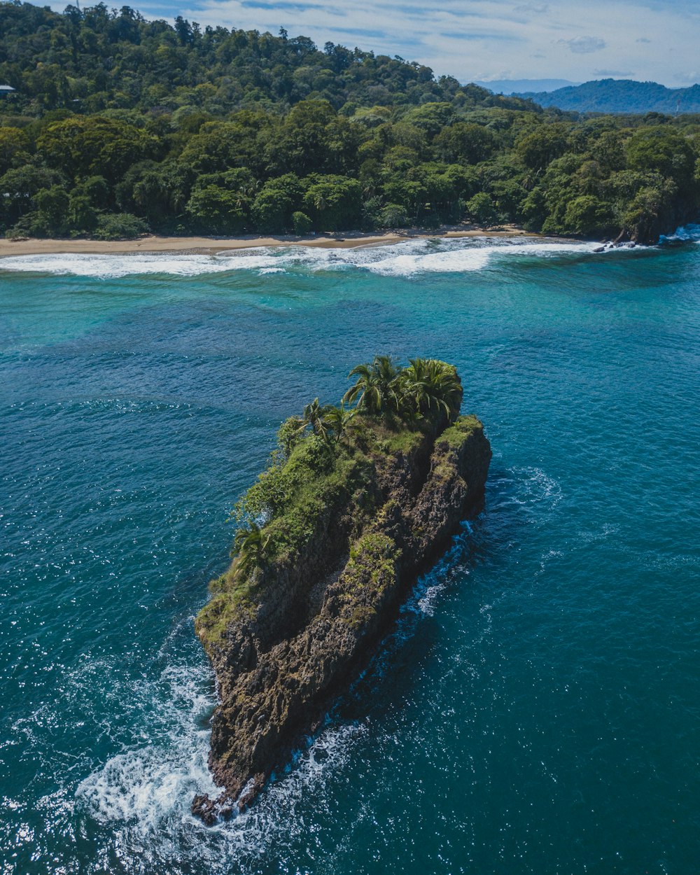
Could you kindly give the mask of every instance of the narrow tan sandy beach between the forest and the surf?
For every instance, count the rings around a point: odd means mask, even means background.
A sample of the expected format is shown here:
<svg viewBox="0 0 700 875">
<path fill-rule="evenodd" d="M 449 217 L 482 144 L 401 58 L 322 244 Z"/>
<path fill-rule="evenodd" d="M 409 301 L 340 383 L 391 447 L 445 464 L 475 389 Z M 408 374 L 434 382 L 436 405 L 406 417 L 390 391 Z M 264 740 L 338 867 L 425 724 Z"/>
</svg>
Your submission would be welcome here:
<svg viewBox="0 0 700 875">
<path fill-rule="evenodd" d="M 539 237 L 514 225 L 502 225 L 489 228 L 436 228 L 430 231 L 424 228 L 406 231 L 387 231 L 384 234 L 363 234 L 360 231 L 338 232 L 337 234 L 322 234 L 297 237 L 294 235 L 276 235 L 262 237 L 244 235 L 241 237 L 162 237 L 149 235 L 137 240 L 59 240 L 30 239 L 3 240 L 0 239 L 0 258 L 11 255 L 116 255 L 134 253 L 180 252 L 192 255 L 219 255 L 234 252 L 237 249 L 280 246 L 308 246 L 311 248 L 341 248 L 349 249 L 363 246 L 383 246 L 390 243 L 400 243 L 406 240 L 430 239 L 443 237 L 455 239 L 460 237 Z"/>
</svg>

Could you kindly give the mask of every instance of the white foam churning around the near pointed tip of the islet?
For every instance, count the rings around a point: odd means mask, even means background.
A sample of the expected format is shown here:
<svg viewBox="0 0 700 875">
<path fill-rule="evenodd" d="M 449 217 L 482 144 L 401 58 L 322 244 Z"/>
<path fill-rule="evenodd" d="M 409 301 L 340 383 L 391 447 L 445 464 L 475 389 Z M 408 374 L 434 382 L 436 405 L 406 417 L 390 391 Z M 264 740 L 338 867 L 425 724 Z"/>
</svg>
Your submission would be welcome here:
<svg viewBox="0 0 700 875">
<path fill-rule="evenodd" d="M 297 807 L 309 796 L 332 795 L 329 782 L 367 736 L 365 724 L 326 725 L 273 776 L 251 809 L 205 827 L 190 803 L 200 793 L 214 798 L 221 788 L 207 767 L 210 731 L 204 718 L 213 703 L 201 681 L 199 669 L 171 666 L 155 687 L 146 683 L 137 690 L 139 700 L 148 694 L 160 699 L 158 725 L 149 728 L 155 741 L 125 747 L 75 788 L 75 802 L 109 831 L 135 875 L 161 871 L 165 861 L 181 872 L 179 861 L 192 855 L 209 872 L 229 872 L 241 855 L 254 861 L 298 841 L 306 827 Z M 171 691 L 165 702 L 164 687 Z"/>
</svg>

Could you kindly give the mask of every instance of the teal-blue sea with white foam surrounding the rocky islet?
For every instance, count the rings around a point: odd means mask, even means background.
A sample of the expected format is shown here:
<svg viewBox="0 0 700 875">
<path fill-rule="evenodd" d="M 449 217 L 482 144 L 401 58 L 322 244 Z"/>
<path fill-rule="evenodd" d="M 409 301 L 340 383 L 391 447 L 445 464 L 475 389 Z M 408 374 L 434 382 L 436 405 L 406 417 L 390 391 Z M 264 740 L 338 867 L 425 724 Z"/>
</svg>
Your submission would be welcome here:
<svg viewBox="0 0 700 875">
<path fill-rule="evenodd" d="M 696 231 L 0 262 L 0 873 L 698 872 Z M 228 511 L 374 353 L 457 364 L 485 510 L 207 829 Z"/>
</svg>

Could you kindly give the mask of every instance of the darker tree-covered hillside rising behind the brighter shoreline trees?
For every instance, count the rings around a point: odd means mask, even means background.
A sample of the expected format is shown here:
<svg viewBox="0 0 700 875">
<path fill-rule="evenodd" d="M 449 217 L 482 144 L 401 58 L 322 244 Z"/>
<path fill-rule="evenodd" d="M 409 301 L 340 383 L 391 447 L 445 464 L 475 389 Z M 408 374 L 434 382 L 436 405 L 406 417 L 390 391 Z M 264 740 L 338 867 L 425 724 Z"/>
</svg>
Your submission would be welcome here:
<svg viewBox="0 0 700 875">
<path fill-rule="evenodd" d="M 335 109 L 453 101 L 523 108 L 517 98 L 436 80 L 427 66 L 311 39 L 258 31 L 200 28 L 177 18 L 146 21 L 123 6 L 97 4 L 63 14 L 0 3 L 0 84 L 17 88 L 13 105 L 38 115 L 67 108 L 226 116 L 232 109 L 285 112 L 310 97 Z M 177 120 L 176 120 L 177 121 Z"/>
</svg>

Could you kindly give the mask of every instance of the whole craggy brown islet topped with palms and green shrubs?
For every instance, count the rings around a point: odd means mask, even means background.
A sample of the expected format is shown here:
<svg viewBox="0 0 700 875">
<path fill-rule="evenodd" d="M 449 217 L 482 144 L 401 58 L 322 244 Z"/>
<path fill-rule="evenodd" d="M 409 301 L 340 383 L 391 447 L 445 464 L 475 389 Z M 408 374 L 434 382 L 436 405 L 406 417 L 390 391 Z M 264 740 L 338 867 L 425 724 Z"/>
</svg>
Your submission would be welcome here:
<svg viewBox="0 0 700 875">
<path fill-rule="evenodd" d="M 214 667 L 206 823 L 249 805 L 373 655 L 416 577 L 479 511 L 491 447 L 454 367 L 384 356 L 279 430 L 235 508 L 234 560 L 195 621 Z M 354 406 L 346 406 L 346 405 Z"/>
</svg>

